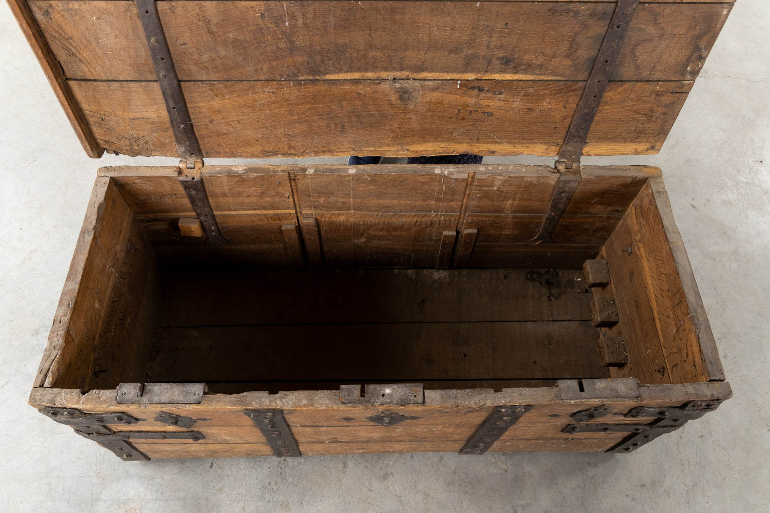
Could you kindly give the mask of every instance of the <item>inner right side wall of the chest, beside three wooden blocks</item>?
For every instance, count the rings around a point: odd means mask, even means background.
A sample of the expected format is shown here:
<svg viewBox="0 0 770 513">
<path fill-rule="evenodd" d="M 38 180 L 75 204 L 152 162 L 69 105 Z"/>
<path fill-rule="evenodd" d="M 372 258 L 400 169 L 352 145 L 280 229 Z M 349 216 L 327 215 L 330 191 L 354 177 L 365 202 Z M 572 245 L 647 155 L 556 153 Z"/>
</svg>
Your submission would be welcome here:
<svg viewBox="0 0 770 513">
<path fill-rule="evenodd" d="M 641 188 L 600 253 L 608 261 L 620 315 L 618 325 L 605 330 L 624 338 L 629 358 L 628 365 L 612 373 L 648 383 L 723 378 L 681 239 L 678 258 L 672 253 L 668 235 L 675 240 L 678 235 L 673 218 L 667 215 L 668 228 L 661 218 L 658 205 L 668 206 L 665 189 L 661 178 L 651 180 L 656 192 L 649 181 Z M 686 292 L 682 279 L 689 284 Z M 713 375 L 705 365 L 701 338 Z"/>
</svg>

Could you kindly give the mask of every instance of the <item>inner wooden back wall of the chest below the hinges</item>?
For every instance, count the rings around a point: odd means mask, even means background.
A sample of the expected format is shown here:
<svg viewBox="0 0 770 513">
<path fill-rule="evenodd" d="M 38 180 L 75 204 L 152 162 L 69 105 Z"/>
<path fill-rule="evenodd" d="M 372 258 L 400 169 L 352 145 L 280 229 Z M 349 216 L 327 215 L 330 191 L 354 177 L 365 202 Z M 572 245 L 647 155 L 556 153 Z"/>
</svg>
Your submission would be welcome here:
<svg viewBox="0 0 770 513">
<path fill-rule="evenodd" d="M 581 185 L 554 230 L 556 244 L 532 245 L 557 179 L 545 166 L 206 166 L 209 201 L 230 242 L 215 249 L 179 235 L 178 217 L 192 208 L 173 168 L 108 168 L 102 175 L 115 180 L 162 258 L 185 252 L 196 261 L 219 255 L 286 265 L 281 227 L 311 218 L 316 229 L 303 228 L 303 238 L 315 245 L 306 253 L 316 265 L 323 258 L 340 268 L 434 268 L 444 232 L 458 232 L 461 242 L 464 230 L 475 229 L 463 265 L 581 268 L 660 170 L 581 168 Z M 459 242 L 450 262 L 463 249 Z"/>
</svg>

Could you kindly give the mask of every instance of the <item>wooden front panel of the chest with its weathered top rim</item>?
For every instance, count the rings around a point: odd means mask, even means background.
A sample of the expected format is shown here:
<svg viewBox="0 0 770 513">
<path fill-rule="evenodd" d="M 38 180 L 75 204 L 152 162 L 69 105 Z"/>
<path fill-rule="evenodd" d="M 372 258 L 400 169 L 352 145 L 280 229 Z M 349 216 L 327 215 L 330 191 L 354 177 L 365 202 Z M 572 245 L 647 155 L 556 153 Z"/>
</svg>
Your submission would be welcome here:
<svg viewBox="0 0 770 513">
<path fill-rule="evenodd" d="M 678 406 L 698 399 L 729 398 L 724 382 L 691 385 L 640 386 L 640 398 L 598 398 L 562 401 L 558 388 L 517 388 L 492 393 L 477 391 L 426 391 L 424 405 L 340 405 L 338 391 L 296 391 L 279 395 L 251 392 L 242 395 L 204 395 L 200 405 L 118 405 L 115 391 L 35 388 L 32 405 L 66 406 L 83 411 L 124 411 L 141 418 L 138 425 L 117 429 L 183 431 L 156 421 L 161 411 L 182 415 L 196 422 L 193 428 L 206 438 L 200 441 L 142 441 L 136 446 L 151 458 L 227 457 L 272 455 L 253 421 L 243 415 L 246 408 L 282 408 L 303 455 L 339 455 L 377 452 L 457 451 L 493 405 L 533 405 L 493 446 L 492 451 L 604 451 L 621 433 L 577 433 L 561 428 L 572 422 L 569 415 L 599 405 L 608 405 L 616 415 L 602 421 L 624 421 L 622 414 L 638 405 Z M 313 405 L 315 407 L 307 407 Z M 415 417 L 392 427 L 367 420 L 380 411 L 397 411 Z M 651 419 L 634 419 L 638 421 Z M 74 435 L 73 435 L 74 436 Z"/>
</svg>

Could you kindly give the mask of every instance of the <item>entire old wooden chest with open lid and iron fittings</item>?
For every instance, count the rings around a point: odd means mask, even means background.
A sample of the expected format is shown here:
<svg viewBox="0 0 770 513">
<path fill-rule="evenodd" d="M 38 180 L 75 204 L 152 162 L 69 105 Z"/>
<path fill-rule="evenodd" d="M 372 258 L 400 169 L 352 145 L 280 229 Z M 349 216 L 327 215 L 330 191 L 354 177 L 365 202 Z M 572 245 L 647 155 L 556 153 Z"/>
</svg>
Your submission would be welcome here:
<svg viewBox="0 0 770 513">
<path fill-rule="evenodd" d="M 731 2 L 8 0 L 102 168 L 30 404 L 124 460 L 634 451 L 731 395 L 658 152 Z M 553 155 L 541 165 L 204 158 Z"/>
</svg>

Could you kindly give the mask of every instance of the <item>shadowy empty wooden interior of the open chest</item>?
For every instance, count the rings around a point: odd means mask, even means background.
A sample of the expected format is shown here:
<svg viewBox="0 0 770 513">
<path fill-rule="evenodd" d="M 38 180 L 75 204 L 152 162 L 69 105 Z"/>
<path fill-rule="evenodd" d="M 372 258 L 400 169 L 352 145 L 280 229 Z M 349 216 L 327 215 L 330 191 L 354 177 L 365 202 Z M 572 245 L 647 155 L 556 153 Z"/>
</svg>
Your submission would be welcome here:
<svg viewBox="0 0 770 513">
<path fill-rule="evenodd" d="M 51 386 L 711 378 L 657 168 L 581 168 L 549 242 L 552 168 L 205 170 L 226 244 L 190 232 L 174 168 L 102 169 Z"/>
</svg>

